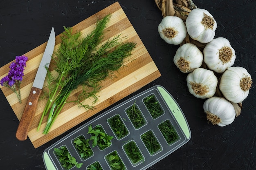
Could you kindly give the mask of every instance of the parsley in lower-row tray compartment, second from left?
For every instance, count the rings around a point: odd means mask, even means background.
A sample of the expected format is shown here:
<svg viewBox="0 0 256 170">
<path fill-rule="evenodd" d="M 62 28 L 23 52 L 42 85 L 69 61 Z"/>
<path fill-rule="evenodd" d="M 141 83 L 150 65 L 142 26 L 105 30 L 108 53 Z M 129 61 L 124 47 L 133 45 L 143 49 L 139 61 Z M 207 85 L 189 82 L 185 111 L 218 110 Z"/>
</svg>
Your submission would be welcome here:
<svg viewBox="0 0 256 170">
<path fill-rule="evenodd" d="M 113 151 L 106 156 L 106 160 L 112 170 L 125 170 L 126 167 L 124 166 L 123 161 L 119 157 L 117 151 Z"/>
</svg>

